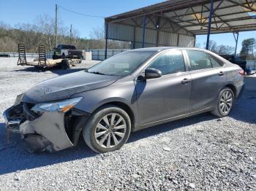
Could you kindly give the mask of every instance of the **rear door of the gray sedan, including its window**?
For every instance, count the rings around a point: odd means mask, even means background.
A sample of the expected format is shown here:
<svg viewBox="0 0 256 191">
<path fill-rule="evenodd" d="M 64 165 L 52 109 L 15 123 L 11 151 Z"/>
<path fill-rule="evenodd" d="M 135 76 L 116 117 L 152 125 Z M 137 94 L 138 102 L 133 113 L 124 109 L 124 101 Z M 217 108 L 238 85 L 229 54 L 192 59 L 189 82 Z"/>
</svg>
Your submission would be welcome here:
<svg viewBox="0 0 256 191">
<path fill-rule="evenodd" d="M 192 78 L 191 112 L 208 109 L 225 83 L 222 63 L 200 50 L 187 50 L 187 57 Z"/>
</svg>

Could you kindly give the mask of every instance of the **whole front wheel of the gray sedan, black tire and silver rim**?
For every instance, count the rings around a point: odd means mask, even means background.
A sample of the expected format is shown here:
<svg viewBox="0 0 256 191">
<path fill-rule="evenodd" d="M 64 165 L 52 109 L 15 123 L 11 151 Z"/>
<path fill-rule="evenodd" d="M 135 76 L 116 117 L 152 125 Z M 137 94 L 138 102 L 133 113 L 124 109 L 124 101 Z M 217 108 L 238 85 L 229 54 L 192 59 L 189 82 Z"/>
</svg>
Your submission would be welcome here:
<svg viewBox="0 0 256 191">
<path fill-rule="evenodd" d="M 94 152 L 112 152 L 127 142 L 130 132 L 131 121 L 127 112 L 118 106 L 106 105 L 97 109 L 86 122 L 83 139 Z"/>
</svg>

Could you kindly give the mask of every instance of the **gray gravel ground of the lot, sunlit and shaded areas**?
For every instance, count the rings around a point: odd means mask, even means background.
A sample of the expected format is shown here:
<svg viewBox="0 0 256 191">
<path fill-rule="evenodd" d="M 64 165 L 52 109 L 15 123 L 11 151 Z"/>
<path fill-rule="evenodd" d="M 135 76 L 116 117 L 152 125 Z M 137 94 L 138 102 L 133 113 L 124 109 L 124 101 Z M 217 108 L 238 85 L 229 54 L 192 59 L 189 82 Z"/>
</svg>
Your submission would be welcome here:
<svg viewBox="0 0 256 191">
<path fill-rule="evenodd" d="M 121 150 L 29 154 L 1 113 L 35 83 L 89 67 L 35 71 L 0 58 L 0 190 L 256 190 L 256 77 L 230 117 L 200 114 L 132 133 Z"/>
</svg>

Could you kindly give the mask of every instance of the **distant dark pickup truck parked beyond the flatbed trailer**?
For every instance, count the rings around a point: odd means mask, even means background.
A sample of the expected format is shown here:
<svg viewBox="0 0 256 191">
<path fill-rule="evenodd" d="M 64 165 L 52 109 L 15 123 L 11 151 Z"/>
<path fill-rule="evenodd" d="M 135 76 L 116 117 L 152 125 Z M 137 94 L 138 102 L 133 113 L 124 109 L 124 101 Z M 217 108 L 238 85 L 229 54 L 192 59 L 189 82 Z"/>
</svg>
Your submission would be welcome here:
<svg viewBox="0 0 256 191">
<path fill-rule="evenodd" d="M 83 51 L 76 50 L 74 45 L 59 44 L 58 47 L 54 48 L 53 59 L 59 58 L 82 58 Z"/>
</svg>

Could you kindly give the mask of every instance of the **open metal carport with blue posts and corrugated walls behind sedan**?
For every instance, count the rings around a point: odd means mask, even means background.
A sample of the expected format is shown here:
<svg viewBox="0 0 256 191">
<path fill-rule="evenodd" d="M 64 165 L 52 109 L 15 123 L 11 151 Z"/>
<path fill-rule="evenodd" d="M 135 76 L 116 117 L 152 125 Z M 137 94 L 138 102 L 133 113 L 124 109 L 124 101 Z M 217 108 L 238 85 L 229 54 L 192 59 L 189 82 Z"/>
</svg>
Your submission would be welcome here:
<svg viewBox="0 0 256 191">
<path fill-rule="evenodd" d="M 105 18 L 108 39 L 132 42 L 133 48 L 194 47 L 195 36 L 256 30 L 256 0 L 171 0 Z M 237 34 L 237 35 L 235 35 Z"/>
</svg>

